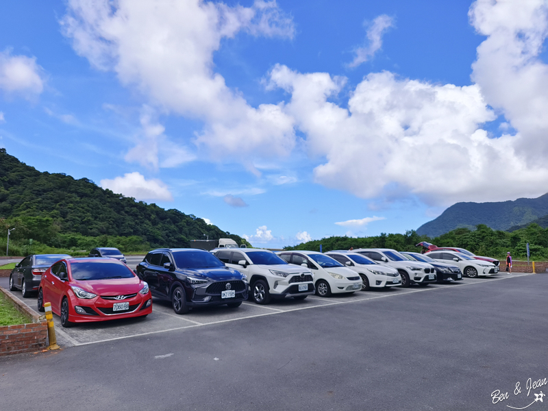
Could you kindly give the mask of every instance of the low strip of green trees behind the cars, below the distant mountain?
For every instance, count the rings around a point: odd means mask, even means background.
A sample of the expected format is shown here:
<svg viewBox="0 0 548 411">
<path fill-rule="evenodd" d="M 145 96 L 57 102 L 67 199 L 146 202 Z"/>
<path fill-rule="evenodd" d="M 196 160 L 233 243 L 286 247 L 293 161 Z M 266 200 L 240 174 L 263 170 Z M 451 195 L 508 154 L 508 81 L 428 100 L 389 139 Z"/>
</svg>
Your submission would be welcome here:
<svg viewBox="0 0 548 411">
<path fill-rule="evenodd" d="M 303 242 L 295 247 L 285 249 L 322 250 L 358 248 L 392 248 L 398 251 L 417 251 L 422 247 L 415 247 L 418 242 L 432 242 L 438 247 L 462 247 L 478 256 L 490 256 L 504 259 L 510 251 L 514 258 L 527 258 L 527 242 L 530 243 L 530 256 L 533 260 L 548 259 L 548 229 L 537 224 L 516 230 L 512 233 L 493 230 L 486 225 L 477 225 L 473 230 L 458 228 L 435 238 L 419 236 L 414 231 L 406 234 L 381 234 L 380 236 L 353 238 L 329 237 L 321 240 Z"/>
</svg>

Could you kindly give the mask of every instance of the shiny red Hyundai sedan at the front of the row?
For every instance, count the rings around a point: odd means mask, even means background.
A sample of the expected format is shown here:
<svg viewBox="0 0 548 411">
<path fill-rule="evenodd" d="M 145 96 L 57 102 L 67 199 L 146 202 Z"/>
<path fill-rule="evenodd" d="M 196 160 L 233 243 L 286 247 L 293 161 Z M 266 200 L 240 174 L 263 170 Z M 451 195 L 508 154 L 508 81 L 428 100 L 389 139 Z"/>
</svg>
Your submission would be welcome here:
<svg viewBox="0 0 548 411">
<path fill-rule="evenodd" d="M 38 310 L 44 311 L 47 302 L 63 327 L 152 312 L 149 285 L 112 258 L 66 258 L 53 264 L 40 281 Z"/>
</svg>

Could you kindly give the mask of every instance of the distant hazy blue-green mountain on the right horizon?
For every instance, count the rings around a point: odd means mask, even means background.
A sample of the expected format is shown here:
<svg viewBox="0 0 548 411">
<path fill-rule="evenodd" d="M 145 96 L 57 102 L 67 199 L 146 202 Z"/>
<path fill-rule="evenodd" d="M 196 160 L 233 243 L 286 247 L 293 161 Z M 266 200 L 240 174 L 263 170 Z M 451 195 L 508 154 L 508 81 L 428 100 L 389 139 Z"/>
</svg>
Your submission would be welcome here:
<svg viewBox="0 0 548 411">
<path fill-rule="evenodd" d="M 485 224 L 495 230 L 508 230 L 514 226 L 529 225 L 548 214 L 548 193 L 536 199 L 516 199 L 498 203 L 456 203 L 438 218 L 419 227 L 419 236 L 431 238 L 457 228 L 475 229 Z"/>
</svg>

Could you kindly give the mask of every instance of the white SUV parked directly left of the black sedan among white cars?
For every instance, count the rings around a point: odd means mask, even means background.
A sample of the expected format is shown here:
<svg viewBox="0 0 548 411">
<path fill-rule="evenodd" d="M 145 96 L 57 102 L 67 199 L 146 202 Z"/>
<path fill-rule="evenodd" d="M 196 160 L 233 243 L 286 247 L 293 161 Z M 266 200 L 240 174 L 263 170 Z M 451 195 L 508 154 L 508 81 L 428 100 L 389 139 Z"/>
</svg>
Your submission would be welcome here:
<svg viewBox="0 0 548 411">
<path fill-rule="evenodd" d="M 408 287 L 411 284 L 427 286 L 436 282 L 436 269 L 431 264 L 418 261 L 410 261 L 394 249 L 356 249 L 354 253 L 363 254 L 371 260 L 397 269 L 401 275 L 401 286 Z"/>
</svg>

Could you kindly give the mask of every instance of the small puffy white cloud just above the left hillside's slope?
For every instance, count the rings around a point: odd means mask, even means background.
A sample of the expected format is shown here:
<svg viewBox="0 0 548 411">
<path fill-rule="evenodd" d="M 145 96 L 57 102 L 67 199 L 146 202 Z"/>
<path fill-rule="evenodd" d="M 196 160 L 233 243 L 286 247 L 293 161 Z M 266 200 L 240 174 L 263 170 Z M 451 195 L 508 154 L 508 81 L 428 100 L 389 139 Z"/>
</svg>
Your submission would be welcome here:
<svg viewBox="0 0 548 411">
<path fill-rule="evenodd" d="M 166 184 L 159 179 L 145 179 L 143 175 L 135 171 L 125 173 L 123 177 L 114 179 L 102 179 L 101 187 L 113 192 L 134 197 L 137 200 L 173 201 Z"/>
</svg>

